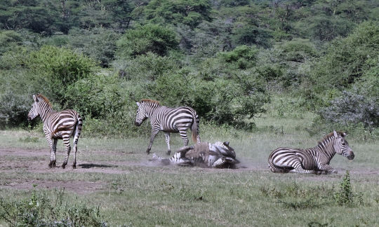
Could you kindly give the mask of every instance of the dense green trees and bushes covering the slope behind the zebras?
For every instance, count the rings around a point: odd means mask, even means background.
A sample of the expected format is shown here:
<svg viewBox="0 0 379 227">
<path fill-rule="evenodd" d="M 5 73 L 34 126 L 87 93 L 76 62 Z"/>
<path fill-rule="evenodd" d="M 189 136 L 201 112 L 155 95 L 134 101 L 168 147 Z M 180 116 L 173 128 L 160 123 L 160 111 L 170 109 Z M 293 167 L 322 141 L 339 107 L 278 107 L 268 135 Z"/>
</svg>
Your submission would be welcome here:
<svg viewBox="0 0 379 227">
<path fill-rule="evenodd" d="M 371 0 L 1 1 L 0 128 L 31 94 L 126 136 L 135 101 L 188 105 L 251 129 L 270 96 L 324 128 L 378 128 L 379 4 Z M 328 129 L 328 130 L 329 130 Z M 142 130 L 144 130 L 142 128 Z M 327 130 L 327 131 L 328 131 Z"/>
</svg>

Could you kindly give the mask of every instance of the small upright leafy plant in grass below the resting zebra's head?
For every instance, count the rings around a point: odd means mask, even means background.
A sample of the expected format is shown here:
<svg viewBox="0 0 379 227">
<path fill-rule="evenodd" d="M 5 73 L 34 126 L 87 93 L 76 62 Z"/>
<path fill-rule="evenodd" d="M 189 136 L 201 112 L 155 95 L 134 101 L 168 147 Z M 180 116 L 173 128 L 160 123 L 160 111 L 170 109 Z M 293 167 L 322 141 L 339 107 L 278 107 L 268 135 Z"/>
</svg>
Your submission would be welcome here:
<svg viewBox="0 0 379 227">
<path fill-rule="evenodd" d="M 352 192 L 352 185 L 350 184 L 350 173 L 346 170 L 345 177 L 340 183 L 340 190 L 334 193 L 334 200 L 338 205 L 353 205 L 354 198 L 357 198 L 359 204 L 363 202 L 362 193 L 355 194 Z"/>
</svg>

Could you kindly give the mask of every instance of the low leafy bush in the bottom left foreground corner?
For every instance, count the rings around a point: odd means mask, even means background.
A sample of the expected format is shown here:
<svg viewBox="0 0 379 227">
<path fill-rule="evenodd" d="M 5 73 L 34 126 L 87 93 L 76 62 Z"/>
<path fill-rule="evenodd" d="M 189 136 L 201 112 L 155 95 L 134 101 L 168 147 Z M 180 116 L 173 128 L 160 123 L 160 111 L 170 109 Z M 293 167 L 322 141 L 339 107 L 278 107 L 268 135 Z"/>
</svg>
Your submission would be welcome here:
<svg viewBox="0 0 379 227">
<path fill-rule="evenodd" d="M 0 198 L 0 219 L 9 226 L 107 226 L 99 207 L 63 202 L 64 191 L 55 192 L 53 199 L 36 191 L 25 200 Z"/>
</svg>

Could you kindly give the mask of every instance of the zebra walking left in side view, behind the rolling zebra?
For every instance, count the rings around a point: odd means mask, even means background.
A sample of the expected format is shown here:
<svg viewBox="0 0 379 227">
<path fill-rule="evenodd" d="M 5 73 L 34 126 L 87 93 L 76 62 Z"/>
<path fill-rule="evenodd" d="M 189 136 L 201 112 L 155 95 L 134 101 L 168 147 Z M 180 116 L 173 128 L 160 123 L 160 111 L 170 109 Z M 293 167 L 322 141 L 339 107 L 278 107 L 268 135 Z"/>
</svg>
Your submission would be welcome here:
<svg viewBox="0 0 379 227">
<path fill-rule="evenodd" d="M 178 108 L 169 108 L 161 106 L 158 101 L 152 99 L 142 99 L 137 102 L 138 111 L 135 116 L 135 125 L 140 126 L 146 118 L 150 118 L 152 125 L 152 135 L 146 153 L 149 154 L 152 149 L 152 143 L 159 131 L 166 133 L 166 144 L 168 146 L 167 153 L 171 153 L 170 149 L 170 133 L 179 132 L 184 146 L 188 145 L 187 129 L 192 130 L 192 140 L 200 143 L 199 137 L 199 116 L 194 109 L 181 106 Z"/>
</svg>

